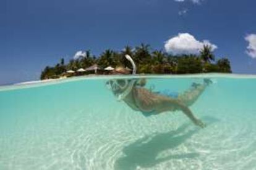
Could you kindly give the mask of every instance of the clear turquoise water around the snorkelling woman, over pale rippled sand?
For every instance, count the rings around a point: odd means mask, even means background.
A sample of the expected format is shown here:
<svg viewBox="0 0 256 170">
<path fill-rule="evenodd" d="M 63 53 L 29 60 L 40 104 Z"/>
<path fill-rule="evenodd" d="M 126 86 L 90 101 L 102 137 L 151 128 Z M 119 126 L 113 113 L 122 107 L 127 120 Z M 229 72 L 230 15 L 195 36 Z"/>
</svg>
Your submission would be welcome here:
<svg viewBox="0 0 256 170">
<path fill-rule="evenodd" d="M 146 76 L 147 77 L 147 76 Z M 186 91 L 213 81 L 181 112 L 145 117 L 118 102 L 110 77 L 0 87 L 0 169 L 256 169 L 256 76 L 148 76 Z"/>
</svg>

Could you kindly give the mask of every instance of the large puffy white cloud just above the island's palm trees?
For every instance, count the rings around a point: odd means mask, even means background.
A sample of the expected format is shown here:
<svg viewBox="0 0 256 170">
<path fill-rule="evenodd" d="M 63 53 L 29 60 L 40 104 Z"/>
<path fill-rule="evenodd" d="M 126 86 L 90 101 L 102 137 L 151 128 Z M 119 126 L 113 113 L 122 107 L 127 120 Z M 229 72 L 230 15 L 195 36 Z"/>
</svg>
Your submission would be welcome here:
<svg viewBox="0 0 256 170">
<path fill-rule="evenodd" d="M 169 39 L 164 44 L 166 52 L 179 55 L 179 54 L 199 54 L 203 45 L 211 46 L 211 50 L 215 51 L 218 47 L 211 44 L 208 40 L 198 41 L 189 33 L 179 33 L 177 36 Z"/>
</svg>

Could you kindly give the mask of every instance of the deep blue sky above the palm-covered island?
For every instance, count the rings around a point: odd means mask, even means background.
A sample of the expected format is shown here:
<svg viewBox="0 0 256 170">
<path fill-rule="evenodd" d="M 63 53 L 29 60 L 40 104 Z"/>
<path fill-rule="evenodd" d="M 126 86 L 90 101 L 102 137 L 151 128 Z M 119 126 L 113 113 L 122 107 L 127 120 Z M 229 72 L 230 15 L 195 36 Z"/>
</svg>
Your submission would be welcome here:
<svg viewBox="0 0 256 170">
<path fill-rule="evenodd" d="M 0 84 L 38 79 L 46 65 L 86 49 L 98 55 L 145 42 L 164 50 L 179 34 L 214 44 L 234 73 L 256 74 L 255 7 L 254 0 L 2 0 Z"/>
</svg>

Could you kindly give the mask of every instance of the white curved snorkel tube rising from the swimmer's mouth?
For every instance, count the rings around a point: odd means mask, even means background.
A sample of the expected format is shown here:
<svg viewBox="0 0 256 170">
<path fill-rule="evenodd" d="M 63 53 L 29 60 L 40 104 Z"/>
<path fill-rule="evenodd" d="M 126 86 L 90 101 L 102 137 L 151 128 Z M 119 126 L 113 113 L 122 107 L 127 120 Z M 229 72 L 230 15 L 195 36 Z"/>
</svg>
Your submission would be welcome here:
<svg viewBox="0 0 256 170">
<path fill-rule="evenodd" d="M 136 65 L 134 63 L 134 60 L 132 60 L 132 57 L 130 57 L 130 55 L 128 55 L 128 54 L 126 54 L 125 57 L 132 64 L 132 75 L 135 75 L 136 74 Z M 128 84 L 127 89 L 124 92 L 122 92 L 122 94 L 118 95 L 117 100 L 118 101 L 123 100 L 129 94 L 129 92 L 132 91 L 132 87 L 134 87 L 134 84 L 135 84 L 135 79 L 132 79 L 130 81 L 130 83 Z"/>
</svg>

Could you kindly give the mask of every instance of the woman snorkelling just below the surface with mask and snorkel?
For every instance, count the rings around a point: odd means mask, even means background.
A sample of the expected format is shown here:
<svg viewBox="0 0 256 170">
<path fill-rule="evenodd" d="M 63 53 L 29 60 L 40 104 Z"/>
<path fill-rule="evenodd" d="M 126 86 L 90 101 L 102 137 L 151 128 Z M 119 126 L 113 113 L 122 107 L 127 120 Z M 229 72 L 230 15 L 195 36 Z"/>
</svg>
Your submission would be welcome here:
<svg viewBox="0 0 256 170">
<path fill-rule="evenodd" d="M 114 74 L 128 75 L 129 71 L 124 67 L 117 67 Z M 119 100 L 123 100 L 133 110 L 141 111 L 144 116 L 181 110 L 195 125 L 205 127 L 205 124 L 194 116 L 189 106 L 198 99 L 210 83 L 210 79 L 204 79 L 202 84 L 193 83 L 188 91 L 176 96 L 144 88 L 145 79 L 112 79 L 106 85 Z"/>
</svg>

